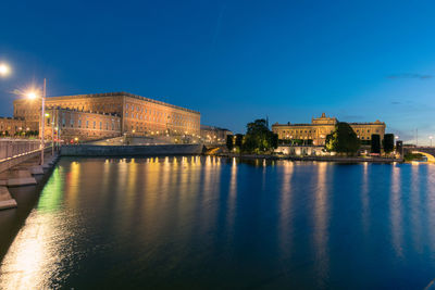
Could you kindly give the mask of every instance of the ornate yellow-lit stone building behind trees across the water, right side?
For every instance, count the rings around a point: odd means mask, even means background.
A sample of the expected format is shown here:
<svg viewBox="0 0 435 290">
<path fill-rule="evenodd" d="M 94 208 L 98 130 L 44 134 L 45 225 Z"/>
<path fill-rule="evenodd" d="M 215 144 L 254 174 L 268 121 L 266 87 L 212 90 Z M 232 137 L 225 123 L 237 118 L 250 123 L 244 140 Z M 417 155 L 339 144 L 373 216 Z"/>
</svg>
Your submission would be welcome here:
<svg viewBox="0 0 435 290">
<path fill-rule="evenodd" d="M 324 146 L 326 136 L 334 131 L 337 118 L 328 117 L 325 113 L 320 117 L 313 117 L 311 124 L 278 124 L 272 125 L 273 133 L 282 140 L 312 140 L 313 146 Z M 385 123 L 349 123 L 360 140 L 371 140 L 372 134 L 378 134 L 384 138 Z"/>
</svg>

